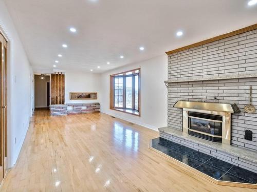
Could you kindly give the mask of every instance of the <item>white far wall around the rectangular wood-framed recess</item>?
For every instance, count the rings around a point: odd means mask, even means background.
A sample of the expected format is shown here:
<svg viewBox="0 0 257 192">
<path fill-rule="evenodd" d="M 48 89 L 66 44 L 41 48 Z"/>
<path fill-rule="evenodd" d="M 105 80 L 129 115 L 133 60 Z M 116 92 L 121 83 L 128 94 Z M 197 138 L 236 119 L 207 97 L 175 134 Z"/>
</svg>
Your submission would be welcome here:
<svg viewBox="0 0 257 192">
<path fill-rule="evenodd" d="M 83 72 L 65 72 L 65 103 L 99 102 L 101 96 L 101 74 Z M 96 100 L 70 100 L 69 92 L 97 92 Z"/>
</svg>

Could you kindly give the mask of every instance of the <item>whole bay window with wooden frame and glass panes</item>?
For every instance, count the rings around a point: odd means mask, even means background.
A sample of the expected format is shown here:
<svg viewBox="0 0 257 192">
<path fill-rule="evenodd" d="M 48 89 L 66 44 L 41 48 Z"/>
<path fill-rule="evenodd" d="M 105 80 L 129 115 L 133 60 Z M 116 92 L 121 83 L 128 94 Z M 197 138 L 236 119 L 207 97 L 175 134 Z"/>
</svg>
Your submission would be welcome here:
<svg viewBox="0 0 257 192">
<path fill-rule="evenodd" d="M 140 69 L 111 75 L 110 109 L 140 116 Z"/>
</svg>

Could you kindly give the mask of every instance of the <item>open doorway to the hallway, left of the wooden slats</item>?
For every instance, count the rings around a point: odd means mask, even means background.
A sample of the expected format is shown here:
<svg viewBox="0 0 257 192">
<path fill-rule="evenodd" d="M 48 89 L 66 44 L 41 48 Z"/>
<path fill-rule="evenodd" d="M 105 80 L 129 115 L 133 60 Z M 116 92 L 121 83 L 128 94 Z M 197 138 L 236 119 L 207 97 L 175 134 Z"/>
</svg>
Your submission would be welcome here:
<svg viewBox="0 0 257 192">
<path fill-rule="evenodd" d="M 49 109 L 50 105 L 50 76 L 35 74 L 35 109 Z"/>
</svg>

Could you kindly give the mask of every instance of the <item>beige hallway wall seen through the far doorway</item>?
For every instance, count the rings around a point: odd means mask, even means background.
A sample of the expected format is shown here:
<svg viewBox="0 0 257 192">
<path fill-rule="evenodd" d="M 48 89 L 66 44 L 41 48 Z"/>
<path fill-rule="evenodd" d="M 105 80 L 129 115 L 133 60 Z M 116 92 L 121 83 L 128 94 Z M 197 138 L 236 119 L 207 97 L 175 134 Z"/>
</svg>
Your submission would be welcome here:
<svg viewBox="0 0 257 192">
<path fill-rule="evenodd" d="M 44 79 L 40 75 L 35 75 L 35 108 L 47 107 L 47 82 L 50 81 L 50 76 L 45 76 Z"/>
</svg>

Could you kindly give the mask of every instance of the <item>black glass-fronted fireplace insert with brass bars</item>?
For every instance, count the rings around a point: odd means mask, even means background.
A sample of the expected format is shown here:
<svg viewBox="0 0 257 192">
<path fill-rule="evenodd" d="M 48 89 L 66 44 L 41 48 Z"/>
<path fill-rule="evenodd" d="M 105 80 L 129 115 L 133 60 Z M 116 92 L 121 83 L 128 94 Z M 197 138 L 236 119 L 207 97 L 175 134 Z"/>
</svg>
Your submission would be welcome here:
<svg viewBox="0 0 257 192">
<path fill-rule="evenodd" d="M 188 133 L 207 140 L 222 142 L 223 117 L 198 112 L 188 112 Z"/>
</svg>

